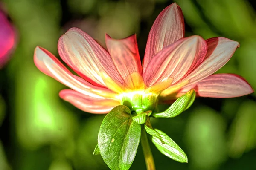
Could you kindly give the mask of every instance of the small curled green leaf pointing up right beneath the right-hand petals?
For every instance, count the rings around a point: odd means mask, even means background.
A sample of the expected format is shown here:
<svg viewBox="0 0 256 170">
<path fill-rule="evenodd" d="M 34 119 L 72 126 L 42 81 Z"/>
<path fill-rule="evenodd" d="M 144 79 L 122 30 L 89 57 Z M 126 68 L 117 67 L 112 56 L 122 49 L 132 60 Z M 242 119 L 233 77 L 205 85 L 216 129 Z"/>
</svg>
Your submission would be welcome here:
<svg viewBox="0 0 256 170">
<path fill-rule="evenodd" d="M 186 94 L 178 98 L 166 111 L 153 113 L 155 118 L 173 118 L 188 109 L 195 101 L 195 90 L 191 89 Z"/>
</svg>

